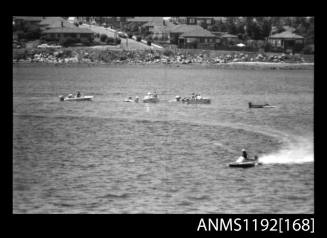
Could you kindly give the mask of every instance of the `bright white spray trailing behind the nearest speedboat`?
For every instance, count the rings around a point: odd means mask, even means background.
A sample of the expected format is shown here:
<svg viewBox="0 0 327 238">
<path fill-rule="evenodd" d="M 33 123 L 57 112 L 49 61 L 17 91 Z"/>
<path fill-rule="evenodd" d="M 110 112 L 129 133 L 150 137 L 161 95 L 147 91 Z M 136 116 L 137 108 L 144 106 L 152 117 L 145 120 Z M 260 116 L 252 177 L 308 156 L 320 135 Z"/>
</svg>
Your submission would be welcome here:
<svg viewBox="0 0 327 238">
<path fill-rule="evenodd" d="M 302 164 L 314 161 L 313 140 L 299 138 L 287 144 L 283 149 L 272 154 L 261 156 L 264 164 Z"/>
</svg>

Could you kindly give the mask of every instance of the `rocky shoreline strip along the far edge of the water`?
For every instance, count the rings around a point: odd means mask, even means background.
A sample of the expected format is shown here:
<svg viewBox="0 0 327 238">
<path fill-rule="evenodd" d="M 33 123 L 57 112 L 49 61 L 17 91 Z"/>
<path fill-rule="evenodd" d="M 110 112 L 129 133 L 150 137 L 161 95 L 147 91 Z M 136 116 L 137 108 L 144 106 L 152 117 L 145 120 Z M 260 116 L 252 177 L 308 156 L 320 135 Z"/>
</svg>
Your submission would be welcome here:
<svg viewBox="0 0 327 238">
<path fill-rule="evenodd" d="M 14 49 L 13 64 L 55 66 L 191 65 L 210 68 L 313 69 L 313 55 L 210 50 Z"/>
</svg>

